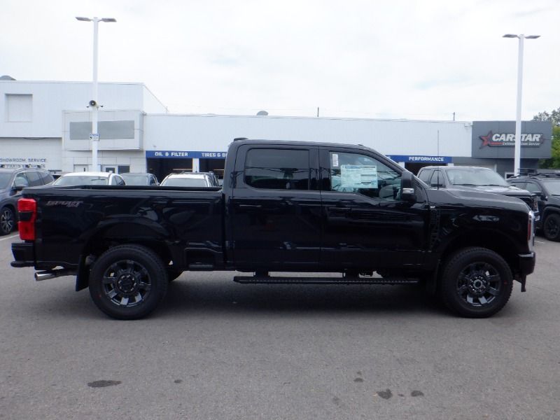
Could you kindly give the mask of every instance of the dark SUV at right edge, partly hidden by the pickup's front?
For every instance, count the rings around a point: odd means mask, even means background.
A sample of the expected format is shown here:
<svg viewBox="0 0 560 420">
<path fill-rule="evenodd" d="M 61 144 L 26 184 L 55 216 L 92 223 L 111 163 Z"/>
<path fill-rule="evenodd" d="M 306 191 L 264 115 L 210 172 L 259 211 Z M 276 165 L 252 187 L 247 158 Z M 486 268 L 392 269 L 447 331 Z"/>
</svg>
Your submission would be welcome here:
<svg viewBox="0 0 560 420">
<path fill-rule="evenodd" d="M 537 196 L 541 217 L 536 228 L 550 241 L 560 241 L 560 171 L 526 173 L 507 182 Z"/>
</svg>

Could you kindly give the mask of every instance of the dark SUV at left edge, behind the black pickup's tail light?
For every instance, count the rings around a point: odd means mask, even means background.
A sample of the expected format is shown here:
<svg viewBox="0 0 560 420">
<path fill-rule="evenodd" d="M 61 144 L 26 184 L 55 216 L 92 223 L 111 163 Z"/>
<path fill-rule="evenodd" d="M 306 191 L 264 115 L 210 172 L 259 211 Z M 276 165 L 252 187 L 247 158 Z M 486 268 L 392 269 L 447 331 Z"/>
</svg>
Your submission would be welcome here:
<svg viewBox="0 0 560 420">
<path fill-rule="evenodd" d="M 8 235 L 15 229 L 22 189 L 43 186 L 52 180 L 52 175 L 45 169 L 0 167 L 0 235 Z"/>
</svg>

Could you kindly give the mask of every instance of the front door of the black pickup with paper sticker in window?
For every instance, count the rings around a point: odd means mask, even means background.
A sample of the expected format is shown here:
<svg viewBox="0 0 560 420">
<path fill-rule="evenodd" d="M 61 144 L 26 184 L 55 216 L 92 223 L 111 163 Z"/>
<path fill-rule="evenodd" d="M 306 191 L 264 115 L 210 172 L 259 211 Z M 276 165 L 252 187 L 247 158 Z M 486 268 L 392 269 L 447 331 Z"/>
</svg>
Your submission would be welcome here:
<svg viewBox="0 0 560 420">
<path fill-rule="evenodd" d="M 320 151 L 321 266 L 347 269 L 420 265 L 428 206 L 400 199 L 402 169 L 369 151 Z M 417 194 L 423 197 L 423 194 Z"/>
</svg>

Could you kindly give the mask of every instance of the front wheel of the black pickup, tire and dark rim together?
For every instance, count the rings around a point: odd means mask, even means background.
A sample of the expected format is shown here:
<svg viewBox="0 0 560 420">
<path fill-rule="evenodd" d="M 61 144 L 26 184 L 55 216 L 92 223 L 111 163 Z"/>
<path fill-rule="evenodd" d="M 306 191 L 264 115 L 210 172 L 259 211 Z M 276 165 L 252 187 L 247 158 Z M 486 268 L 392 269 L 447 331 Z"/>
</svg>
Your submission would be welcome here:
<svg viewBox="0 0 560 420">
<path fill-rule="evenodd" d="M 440 278 L 444 304 L 465 318 L 486 318 L 500 311 L 513 288 L 507 262 L 486 248 L 463 248 L 452 254 Z"/>
</svg>

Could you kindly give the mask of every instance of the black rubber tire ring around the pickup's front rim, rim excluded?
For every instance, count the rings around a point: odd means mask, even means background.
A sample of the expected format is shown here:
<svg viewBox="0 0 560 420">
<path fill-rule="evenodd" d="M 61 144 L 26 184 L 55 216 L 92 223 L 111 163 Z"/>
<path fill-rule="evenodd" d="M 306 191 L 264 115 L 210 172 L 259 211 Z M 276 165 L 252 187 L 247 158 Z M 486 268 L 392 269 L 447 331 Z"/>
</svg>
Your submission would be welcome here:
<svg viewBox="0 0 560 420">
<path fill-rule="evenodd" d="M 475 262 L 491 265 L 500 275 L 500 293 L 491 303 L 482 307 L 469 304 L 457 293 L 459 274 L 465 267 Z M 513 288 L 512 272 L 507 262 L 500 255 L 486 248 L 464 248 L 451 255 L 443 269 L 440 282 L 442 298 L 446 306 L 468 318 L 486 318 L 496 314 L 510 299 Z"/>
</svg>

